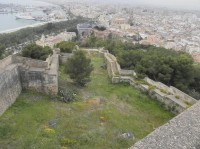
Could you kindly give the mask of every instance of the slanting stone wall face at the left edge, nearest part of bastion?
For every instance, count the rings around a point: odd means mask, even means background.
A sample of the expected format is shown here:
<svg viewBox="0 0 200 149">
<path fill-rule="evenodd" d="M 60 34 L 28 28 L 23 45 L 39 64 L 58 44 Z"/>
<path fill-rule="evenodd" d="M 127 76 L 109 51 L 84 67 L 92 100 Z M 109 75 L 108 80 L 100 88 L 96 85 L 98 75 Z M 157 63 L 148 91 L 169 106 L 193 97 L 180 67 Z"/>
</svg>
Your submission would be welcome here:
<svg viewBox="0 0 200 149">
<path fill-rule="evenodd" d="M 10 63 L 6 59 L 6 62 Z M 6 62 L 4 65 L 6 66 Z M 17 64 L 7 65 L 0 72 L 0 115 L 11 106 L 21 93 L 22 87 Z"/>
</svg>

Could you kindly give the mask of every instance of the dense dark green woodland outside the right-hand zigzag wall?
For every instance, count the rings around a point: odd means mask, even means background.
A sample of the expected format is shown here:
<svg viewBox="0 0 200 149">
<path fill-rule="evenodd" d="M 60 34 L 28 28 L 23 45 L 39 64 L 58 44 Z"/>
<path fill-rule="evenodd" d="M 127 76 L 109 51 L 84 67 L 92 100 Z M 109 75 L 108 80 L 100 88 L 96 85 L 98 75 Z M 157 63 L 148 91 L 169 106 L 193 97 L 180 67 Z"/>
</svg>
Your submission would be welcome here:
<svg viewBox="0 0 200 149">
<path fill-rule="evenodd" d="M 185 52 L 94 36 L 82 46 L 104 47 L 117 57 L 123 69 L 133 69 L 141 78 L 148 76 L 200 98 L 200 65 Z"/>
</svg>

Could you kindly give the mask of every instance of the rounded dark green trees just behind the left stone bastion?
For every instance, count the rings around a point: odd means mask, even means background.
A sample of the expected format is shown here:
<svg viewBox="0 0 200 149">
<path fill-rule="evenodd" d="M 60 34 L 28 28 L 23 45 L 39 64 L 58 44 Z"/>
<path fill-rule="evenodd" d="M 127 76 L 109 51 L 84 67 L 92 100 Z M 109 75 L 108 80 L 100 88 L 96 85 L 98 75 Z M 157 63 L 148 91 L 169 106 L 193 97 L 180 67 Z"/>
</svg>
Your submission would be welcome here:
<svg viewBox="0 0 200 149">
<path fill-rule="evenodd" d="M 29 44 L 22 50 L 22 56 L 38 60 L 46 60 L 49 54 L 52 54 L 50 47 L 43 48 L 36 44 Z"/>
</svg>

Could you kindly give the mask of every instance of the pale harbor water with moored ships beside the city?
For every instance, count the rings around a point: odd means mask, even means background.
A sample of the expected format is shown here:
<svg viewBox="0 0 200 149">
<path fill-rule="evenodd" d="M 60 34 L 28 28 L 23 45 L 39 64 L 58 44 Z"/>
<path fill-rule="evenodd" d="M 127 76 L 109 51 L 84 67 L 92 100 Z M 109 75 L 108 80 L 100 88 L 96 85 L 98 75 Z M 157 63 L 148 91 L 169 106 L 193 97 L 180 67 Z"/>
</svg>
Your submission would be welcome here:
<svg viewBox="0 0 200 149">
<path fill-rule="evenodd" d="M 44 5 L 44 2 L 34 0 L 0 0 L 0 33 L 67 19 L 66 13 L 57 5 Z"/>
</svg>

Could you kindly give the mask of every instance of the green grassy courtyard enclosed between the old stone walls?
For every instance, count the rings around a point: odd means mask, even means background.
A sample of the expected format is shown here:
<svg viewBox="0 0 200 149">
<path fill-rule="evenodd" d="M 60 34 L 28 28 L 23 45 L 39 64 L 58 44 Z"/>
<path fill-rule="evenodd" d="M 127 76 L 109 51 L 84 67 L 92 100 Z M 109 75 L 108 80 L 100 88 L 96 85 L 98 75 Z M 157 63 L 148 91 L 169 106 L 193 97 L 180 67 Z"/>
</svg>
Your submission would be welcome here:
<svg viewBox="0 0 200 149">
<path fill-rule="evenodd" d="M 111 84 L 101 68 L 102 58 L 92 62 L 92 81 L 84 88 L 73 84 L 60 67 L 59 85 L 76 88 L 78 101 L 66 104 L 24 91 L 0 117 L 0 149 L 123 149 L 173 117 L 133 87 Z M 55 128 L 49 126 L 52 120 Z M 119 137 L 124 132 L 134 133 L 135 140 Z"/>
</svg>

